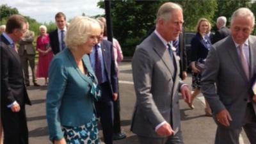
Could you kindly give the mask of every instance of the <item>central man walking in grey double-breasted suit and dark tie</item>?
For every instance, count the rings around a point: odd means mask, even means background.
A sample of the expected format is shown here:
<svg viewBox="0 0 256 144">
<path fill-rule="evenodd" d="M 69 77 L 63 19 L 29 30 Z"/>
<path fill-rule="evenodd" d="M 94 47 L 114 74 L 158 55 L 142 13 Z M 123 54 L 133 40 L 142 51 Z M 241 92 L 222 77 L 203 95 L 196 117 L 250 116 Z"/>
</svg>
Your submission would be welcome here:
<svg viewBox="0 0 256 144">
<path fill-rule="evenodd" d="M 132 58 L 136 105 L 131 130 L 141 144 L 183 143 L 179 91 L 190 102 L 188 85 L 179 79 L 179 60 L 170 47 L 182 30 L 182 8 L 164 3 L 156 30 L 138 45 Z"/>
</svg>

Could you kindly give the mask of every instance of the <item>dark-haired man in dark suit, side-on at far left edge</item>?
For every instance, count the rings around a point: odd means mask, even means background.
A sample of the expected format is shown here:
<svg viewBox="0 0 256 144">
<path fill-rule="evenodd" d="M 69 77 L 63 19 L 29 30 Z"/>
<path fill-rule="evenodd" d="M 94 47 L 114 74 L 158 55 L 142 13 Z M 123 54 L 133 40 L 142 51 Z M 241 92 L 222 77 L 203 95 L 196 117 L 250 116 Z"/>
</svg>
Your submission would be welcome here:
<svg viewBox="0 0 256 144">
<path fill-rule="evenodd" d="M 1 120 L 4 144 L 28 144 L 25 104 L 31 104 L 24 84 L 20 57 L 15 43 L 27 31 L 26 20 L 12 15 L 6 23 L 1 42 Z"/>
</svg>

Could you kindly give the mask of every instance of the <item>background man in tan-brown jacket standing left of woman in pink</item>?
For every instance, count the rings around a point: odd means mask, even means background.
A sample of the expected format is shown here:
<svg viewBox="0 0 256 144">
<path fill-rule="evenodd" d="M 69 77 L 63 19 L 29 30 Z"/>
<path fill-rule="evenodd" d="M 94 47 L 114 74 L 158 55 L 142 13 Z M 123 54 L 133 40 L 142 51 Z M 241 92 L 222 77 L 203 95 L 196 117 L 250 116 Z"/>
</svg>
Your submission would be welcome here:
<svg viewBox="0 0 256 144">
<path fill-rule="evenodd" d="M 33 45 L 33 41 L 35 38 L 34 31 L 29 31 L 29 23 L 27 22 L 27 29 L 25 36 L 19 41 L 19 56 L 20 61 L 22 63 L 22 67 L 24 70 L 24 76 L 25 76 L 25 84 L 26 86 L 30 86 L 29 84 L 29 72 L 28 72 L 28 65 L 30 65 L 31 72 L 32 72 L 32 80 L 34 83 L 34 86 L 39 86 L 39 84 L 36 83 L 36 77 L 35 77 L 35 55 L 36 50 Z"/>
</svg>

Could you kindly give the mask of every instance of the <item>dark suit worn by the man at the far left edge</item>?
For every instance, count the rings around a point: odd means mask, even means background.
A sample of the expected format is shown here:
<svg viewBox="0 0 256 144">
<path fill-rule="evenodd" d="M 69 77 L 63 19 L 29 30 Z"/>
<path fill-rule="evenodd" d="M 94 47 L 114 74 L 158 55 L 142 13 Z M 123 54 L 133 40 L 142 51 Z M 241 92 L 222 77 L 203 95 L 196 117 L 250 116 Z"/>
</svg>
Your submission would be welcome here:
<svg viewBox="0 0 256 144">
<path fill-rule="evenodd" d="M 25 104 L 31 102 L 24 84 L 19 54 L 1 35 L 1 120 L 5 144 L 28 144 L 28 126 Z M 20 105 L 19 112 L 8 108 L 13 102 Z"/>
</svg>

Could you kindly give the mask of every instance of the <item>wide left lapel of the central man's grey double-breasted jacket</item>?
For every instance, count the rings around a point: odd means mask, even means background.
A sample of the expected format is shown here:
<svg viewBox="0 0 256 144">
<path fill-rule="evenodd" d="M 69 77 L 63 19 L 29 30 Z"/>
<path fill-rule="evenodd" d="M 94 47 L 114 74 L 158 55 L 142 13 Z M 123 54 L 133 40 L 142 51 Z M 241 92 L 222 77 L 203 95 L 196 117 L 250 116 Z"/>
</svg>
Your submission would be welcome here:
<svg viewBox="0 0 256 144">
<path fill-rule="evenodd" d="M 168 52 L 168 49 L 166 49 L 166 46 L 163 44 L 163 42 L 157 37 L 155 33 L 152 33 L 152 41 L 154 41 L 153 49 L 161 58 L 161 60 L 164 62 L 164 65 L 168 68 L 170 74 L 172 75 L 172 69 L 174 68 L 172 61 L 170 60 L 170 54 Z M 173 52 L 174 53 L 174 52 Z"/>
</svg>

